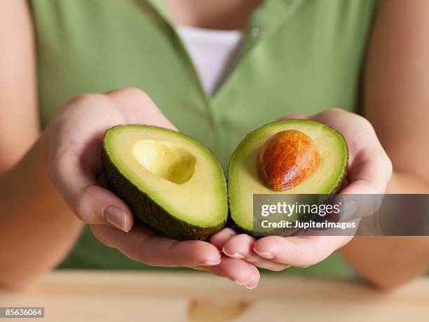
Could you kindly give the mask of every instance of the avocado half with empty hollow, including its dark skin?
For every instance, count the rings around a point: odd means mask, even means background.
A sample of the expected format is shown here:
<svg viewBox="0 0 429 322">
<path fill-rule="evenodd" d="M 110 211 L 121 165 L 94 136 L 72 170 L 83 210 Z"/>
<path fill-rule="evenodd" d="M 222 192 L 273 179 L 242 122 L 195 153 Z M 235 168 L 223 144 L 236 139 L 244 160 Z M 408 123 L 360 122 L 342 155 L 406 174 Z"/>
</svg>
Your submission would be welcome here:
<svg viewBox="0 0 429 322">
<path fill-rule="evenodd" d="M 112 190 L 151 228 L 205 239 L 224 227 L 224 172 L 198 141 L 161 127 L 118 125 L 104 134 L 102 160 Z"/>
</svg>

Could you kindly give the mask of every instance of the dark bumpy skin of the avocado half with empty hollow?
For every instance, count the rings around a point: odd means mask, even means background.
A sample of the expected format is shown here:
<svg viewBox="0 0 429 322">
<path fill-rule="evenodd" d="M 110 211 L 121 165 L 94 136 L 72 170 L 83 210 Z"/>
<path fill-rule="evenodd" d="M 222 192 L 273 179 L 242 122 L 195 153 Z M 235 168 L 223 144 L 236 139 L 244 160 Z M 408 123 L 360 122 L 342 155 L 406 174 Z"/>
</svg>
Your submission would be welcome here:
<svg viewBox="0 0 429 322">
<path fill-rule="evenodd" d="M 201 228 L 171 216 L 118 171 L 113 162 L 109 159 L 104 143 L 102 146 L 102 162 L 111 190 L 128 204 L 132 213 L 139 218 L 140 221 L 158 230 L 158 232 L 175 239 L 205 240 L 207 237 L 214 235 L 224 228 L 226 218 L 224 222 L 219 223 L 219 225 Z"/>
</svg>

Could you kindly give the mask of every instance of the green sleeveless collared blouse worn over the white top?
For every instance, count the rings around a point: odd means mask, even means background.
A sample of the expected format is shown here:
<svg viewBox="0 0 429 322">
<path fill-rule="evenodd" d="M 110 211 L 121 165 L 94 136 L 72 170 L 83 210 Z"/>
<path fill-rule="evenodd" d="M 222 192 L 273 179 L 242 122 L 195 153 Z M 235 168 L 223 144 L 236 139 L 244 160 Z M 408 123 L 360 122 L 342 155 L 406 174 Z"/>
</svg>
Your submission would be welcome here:
<svg viewBox="0 0 429 322">
<path fill-rule="evenodd" d="M 247 132 L 290 113 L 358 111 L 374 0 L 265 0 L 252 14 L 236 66 L 214 96 L 163 1 L 32 0 L 41 123 L 83 92 L 139 87 L 184 134 L 226 167 Z M 86 228 L 61 267 L 146 267 Z M 287 272 L 350 276 L 339 254 Z"/>
</svg>

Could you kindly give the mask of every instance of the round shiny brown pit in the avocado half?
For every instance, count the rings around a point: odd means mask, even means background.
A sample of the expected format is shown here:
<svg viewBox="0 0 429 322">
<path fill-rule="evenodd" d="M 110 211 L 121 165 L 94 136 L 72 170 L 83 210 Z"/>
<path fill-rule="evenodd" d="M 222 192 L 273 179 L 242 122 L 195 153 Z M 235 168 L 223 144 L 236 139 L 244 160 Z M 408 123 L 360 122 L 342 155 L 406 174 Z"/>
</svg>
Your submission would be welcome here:
<svg viewBox="0 0 429 322">
<path fill-rule="evenodd" d="M 297 130 L 284 130 L 262 146 L 258 170 L 268 188 L 281 191 L 308 179 L 319 163 L 318 148 L 310 137 Z"/>
</svg>

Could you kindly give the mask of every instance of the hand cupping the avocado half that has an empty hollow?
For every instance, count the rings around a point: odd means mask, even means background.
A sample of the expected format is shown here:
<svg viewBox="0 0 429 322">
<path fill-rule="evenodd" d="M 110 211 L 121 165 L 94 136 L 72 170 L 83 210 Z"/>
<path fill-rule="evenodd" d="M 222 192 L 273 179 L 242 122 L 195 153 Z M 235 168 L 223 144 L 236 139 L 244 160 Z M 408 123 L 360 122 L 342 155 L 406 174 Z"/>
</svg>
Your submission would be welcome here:
<svg viewBox="0 0 429 322">
<path fill-rule="evenodd" d="M 74 214 L 90 224 L 102 243 L 147 265 L 203 269 L 248 288 L 257 286 L 254 265 L 226 257 L 206 241 L 178 241 L 135 223 L 127 204 L 100 184 L 102 137 L 119 124 L 176 130 L 147 94 L 135 88 L 83 94 L 65 104 L 48 125 L 50 181 Z"/>
</svg>

